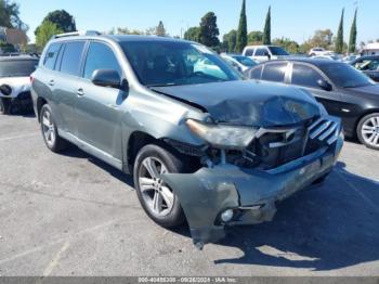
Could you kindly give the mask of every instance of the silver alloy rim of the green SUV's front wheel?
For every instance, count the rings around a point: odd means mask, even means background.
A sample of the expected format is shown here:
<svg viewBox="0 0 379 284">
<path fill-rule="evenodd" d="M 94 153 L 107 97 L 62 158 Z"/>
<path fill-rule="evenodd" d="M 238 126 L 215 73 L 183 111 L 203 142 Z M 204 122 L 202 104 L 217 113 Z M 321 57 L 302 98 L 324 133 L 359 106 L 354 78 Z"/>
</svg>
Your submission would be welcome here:
<svg viewBox="0 0 379 284">
<path fill-rule="evenodd" d="M 172 190 L 159 178 L 159 175 L 167 172 L 165 164 L 156 157 L 146 157 L 139 170 L 143 199 L 149 210 L 159 217 L 169 215 L 174 204 Z"/>
</svg>

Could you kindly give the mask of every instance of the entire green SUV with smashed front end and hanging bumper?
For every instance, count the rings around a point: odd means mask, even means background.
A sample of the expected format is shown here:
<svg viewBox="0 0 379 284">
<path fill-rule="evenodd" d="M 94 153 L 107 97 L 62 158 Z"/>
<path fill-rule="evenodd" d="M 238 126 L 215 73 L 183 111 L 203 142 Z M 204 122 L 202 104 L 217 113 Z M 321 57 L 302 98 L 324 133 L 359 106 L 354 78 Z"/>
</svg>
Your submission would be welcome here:
<svg viewBox="0 0 379 284">
<path fill-rule="evenodd" d="M 195 42 L 60 35 L 31 81 L 51 151 L 69 141 L 132 173 L 146 214 L 166 228 L 186 220 L 198 247 L 225 225 L 270 221 L 343 144 L 340 120 L 310 93 L 245 81 Z"/>
</svg>

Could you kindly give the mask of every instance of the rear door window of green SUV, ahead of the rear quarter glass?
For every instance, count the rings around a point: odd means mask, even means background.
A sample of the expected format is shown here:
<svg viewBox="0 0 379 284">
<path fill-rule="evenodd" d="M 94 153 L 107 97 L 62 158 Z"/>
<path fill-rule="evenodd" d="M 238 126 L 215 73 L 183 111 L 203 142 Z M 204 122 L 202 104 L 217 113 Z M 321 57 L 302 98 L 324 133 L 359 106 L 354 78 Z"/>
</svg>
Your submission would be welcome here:
<svg viewBox="0 0 379 284">
<path fill-rule="evenodd" d="M 66 43 L 62 56 L 61 72 L 75 76 L 79 75 L 83 48 L 84 41 L 74 41 Z"/>
</svg>

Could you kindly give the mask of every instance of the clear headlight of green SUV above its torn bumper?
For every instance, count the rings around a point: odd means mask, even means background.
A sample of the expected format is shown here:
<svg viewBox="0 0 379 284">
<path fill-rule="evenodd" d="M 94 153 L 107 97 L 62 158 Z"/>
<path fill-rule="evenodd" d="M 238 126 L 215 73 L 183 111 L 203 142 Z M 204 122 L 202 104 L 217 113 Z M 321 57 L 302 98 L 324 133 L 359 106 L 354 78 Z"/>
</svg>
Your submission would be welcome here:
<svg viewBox="0 0 379 284">
<path fill-rule="evenodd" d="M 186 125 L 193 133 L 212 146 L 221 149 L 245 149 L 251 143 L 257 132 L 252 127 L 212 125 L 194 119 L 187 119 Z"/>
</svg>

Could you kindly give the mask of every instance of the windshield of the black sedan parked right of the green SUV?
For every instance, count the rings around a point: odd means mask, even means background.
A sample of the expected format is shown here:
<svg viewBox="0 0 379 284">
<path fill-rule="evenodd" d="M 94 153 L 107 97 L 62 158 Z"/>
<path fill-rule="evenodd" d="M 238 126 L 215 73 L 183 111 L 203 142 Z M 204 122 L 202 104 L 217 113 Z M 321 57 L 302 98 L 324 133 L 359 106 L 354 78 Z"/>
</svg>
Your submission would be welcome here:
<svg viewBox="0 0 379 284">
<path fill-rule="evenodd" d="M 375 85 L 366 75 L 345 63 L 326 64 L 322 69 L 336 86 L 341 88 Z"/>
</svg>

